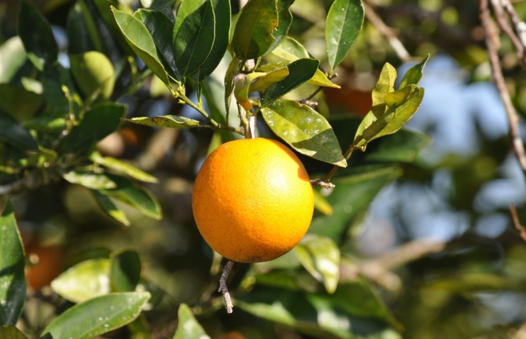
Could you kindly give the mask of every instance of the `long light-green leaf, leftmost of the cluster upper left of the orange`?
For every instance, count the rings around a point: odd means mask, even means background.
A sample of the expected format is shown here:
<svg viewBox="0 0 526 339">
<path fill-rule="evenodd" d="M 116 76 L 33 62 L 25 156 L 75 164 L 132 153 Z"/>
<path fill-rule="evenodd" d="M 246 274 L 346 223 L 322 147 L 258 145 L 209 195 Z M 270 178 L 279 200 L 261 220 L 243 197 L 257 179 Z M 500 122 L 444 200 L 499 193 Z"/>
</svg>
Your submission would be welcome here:
<svg viewBox="0 0 526 339">
<path fill-rule="evenodd" d="M 159 79 L 168 86 L 168 75 L 157 54 L 157 48 L 146 26 L 136 17 L 112 6 L 113 15 L 126 42 Z"/>
</svg>

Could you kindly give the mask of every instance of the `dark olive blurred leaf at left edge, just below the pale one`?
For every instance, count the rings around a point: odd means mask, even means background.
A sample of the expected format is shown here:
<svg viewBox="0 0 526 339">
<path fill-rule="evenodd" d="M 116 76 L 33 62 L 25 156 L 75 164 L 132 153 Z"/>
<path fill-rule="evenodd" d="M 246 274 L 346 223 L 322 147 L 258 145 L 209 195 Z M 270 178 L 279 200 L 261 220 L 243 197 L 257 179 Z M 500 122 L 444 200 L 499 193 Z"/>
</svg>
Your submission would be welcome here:
<svg viewBox="0 0 526 339">
<path fill-rule="evenodd" d="M 44 104 L 42 96 L 11 84 L 0 84 L 0 110 L 24 121 Z"/>
</svg>

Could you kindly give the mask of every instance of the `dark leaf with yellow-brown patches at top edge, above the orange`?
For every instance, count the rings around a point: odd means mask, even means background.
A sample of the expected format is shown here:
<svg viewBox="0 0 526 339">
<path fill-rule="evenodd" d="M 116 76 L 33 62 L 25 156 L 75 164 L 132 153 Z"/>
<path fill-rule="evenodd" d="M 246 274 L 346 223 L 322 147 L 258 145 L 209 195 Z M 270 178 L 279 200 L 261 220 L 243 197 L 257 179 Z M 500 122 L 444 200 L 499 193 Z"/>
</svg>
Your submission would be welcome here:
<svg viewBox="0 0 526 339">
<path fill-rule="evenodd" d="M 232 34 L 232 50 L 238 59 L 264 55 L 275 40 L 278 27 L 276 0 L 250 0 L 239 12 Z"/>
</svg>

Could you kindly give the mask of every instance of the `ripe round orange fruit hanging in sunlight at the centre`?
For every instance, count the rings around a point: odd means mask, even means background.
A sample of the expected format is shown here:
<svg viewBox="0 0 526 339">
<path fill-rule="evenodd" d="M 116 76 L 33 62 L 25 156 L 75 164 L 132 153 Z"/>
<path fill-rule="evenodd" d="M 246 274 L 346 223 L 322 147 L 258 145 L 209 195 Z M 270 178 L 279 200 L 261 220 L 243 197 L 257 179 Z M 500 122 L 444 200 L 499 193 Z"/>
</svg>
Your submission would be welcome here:
<svg viewBox="0 0 526 339">
<path fill-rule="evenodd" d="M 230 141 L 197 174 L 192 209 L 199 232 L 220 255 L 261 262 L 290 251 L 314 209 L 309 176 L 298 157 L 269 139 Z"/>
</svg>

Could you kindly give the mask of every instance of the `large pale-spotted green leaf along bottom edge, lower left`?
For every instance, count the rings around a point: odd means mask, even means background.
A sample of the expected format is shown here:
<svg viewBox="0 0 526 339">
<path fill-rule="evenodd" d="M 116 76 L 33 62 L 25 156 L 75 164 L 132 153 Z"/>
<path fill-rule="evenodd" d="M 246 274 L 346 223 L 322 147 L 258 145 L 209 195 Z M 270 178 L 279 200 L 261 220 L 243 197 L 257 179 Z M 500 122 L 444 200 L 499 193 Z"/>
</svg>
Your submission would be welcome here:
<svg viewBox="0 0 526 339">
<path fill-rule="evenodd" d="M 93 338 L 135 320 L 150 299 L 148 292 L 112 293 L 75 305 L 56 317 L 41 338 Z"/>
</svg>

